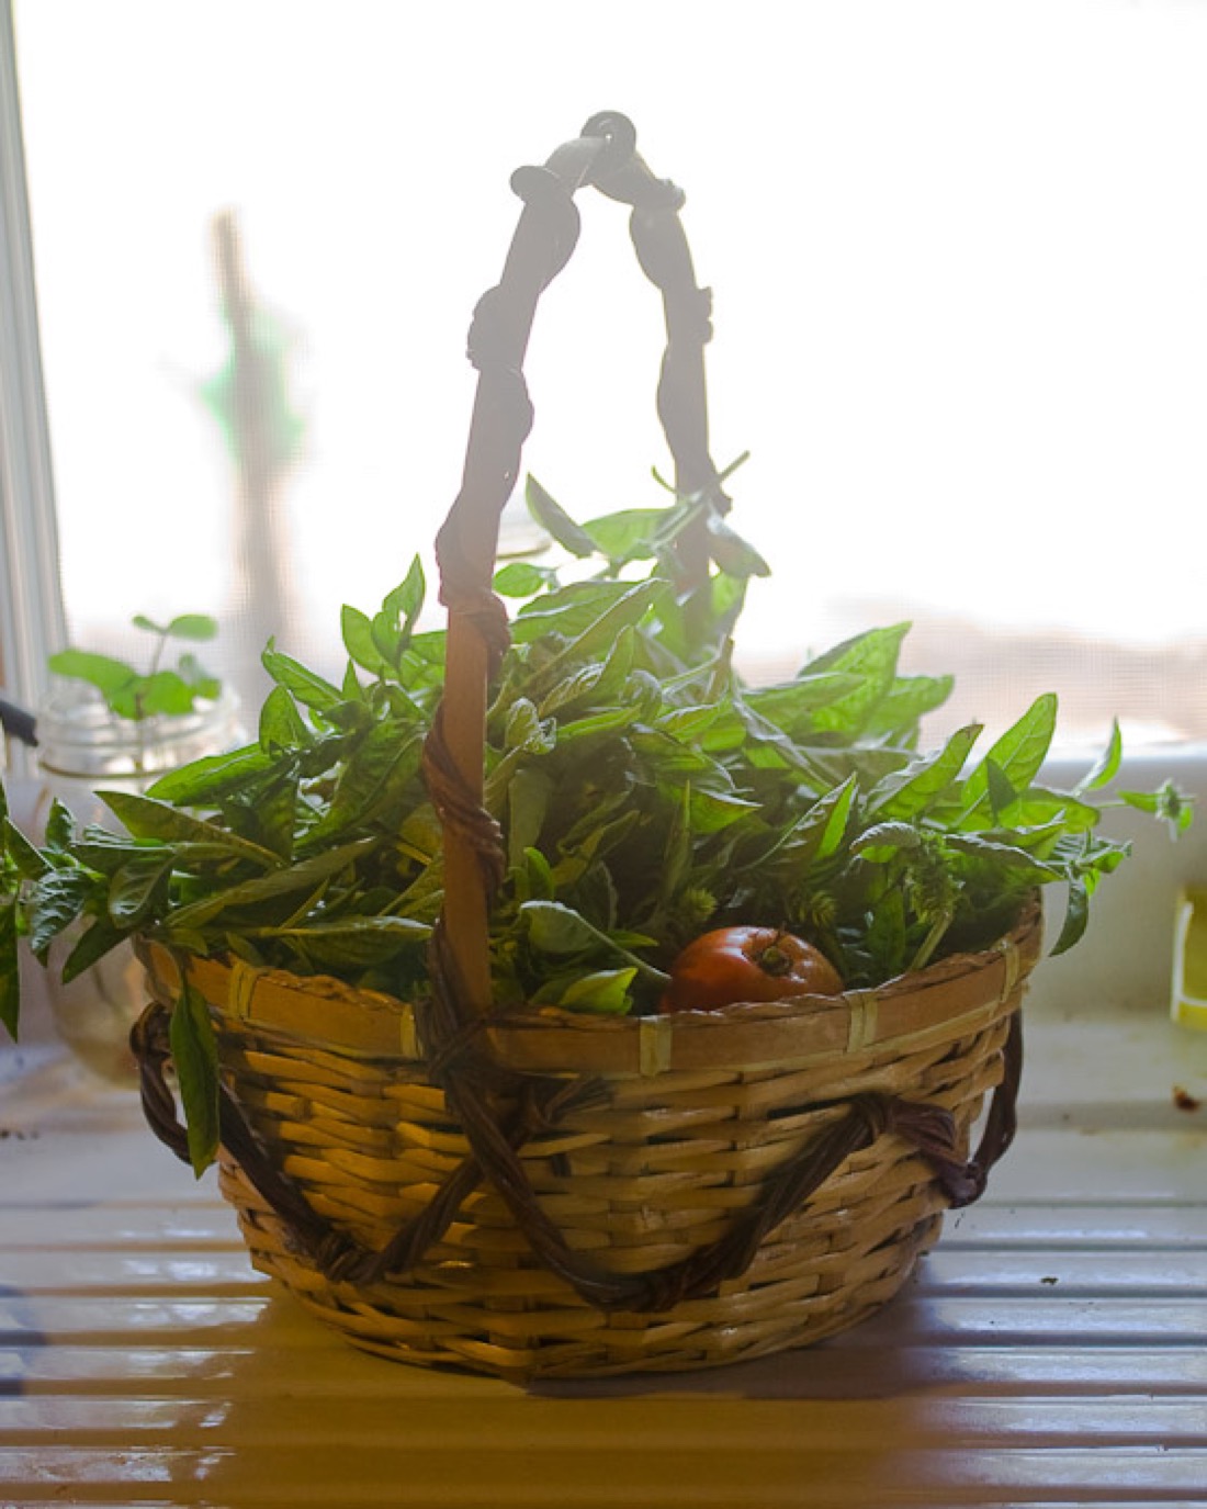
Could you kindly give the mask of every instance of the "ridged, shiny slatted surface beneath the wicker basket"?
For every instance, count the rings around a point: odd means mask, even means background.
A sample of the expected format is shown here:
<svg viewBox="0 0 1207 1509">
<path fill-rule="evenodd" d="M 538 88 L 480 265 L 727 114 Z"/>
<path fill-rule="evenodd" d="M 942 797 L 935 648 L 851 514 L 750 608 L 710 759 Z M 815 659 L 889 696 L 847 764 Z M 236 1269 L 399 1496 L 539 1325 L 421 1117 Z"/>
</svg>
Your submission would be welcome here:
<svg viewBox="0 0 1207 1509">
<path fill-rule="evenodd" d="M 863 1328 L 531 1390 L 355 1352 L 131 1094 L 9 1053 L 0 1506 L 1207 1504 L 1207 1112 L 1169 1094 L 1207 1038 L 1174 1031 L 1033 1025 L 1015 1150 Z"/>
</svg>

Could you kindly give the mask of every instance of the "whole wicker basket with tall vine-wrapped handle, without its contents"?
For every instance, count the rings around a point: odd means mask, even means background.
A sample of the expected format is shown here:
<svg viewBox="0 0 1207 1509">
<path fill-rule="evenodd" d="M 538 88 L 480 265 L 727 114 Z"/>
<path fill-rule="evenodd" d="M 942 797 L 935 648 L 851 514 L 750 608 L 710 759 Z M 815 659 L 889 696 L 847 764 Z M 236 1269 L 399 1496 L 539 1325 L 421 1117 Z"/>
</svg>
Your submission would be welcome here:
<svg viewBox="0 0 1207 1509">
<path fill-rule="evenodd" d="M 1037 905 L 987 952 L 874 991 L 649 1019 L 493 1008 L 483 723 L 507 622 L 490 573 L 531 424 L 524 350 L 584 183 L 632 205 L 664 296 L 658 403 L 679 490 L 727 509 L 682 196 L 649 174 L 628 121 L 599 116 L 514 175 L 525 210 L 471 330 L 465 486 L 438 540 L 448 659 L 425 777 L 447 892 L 432 997 L 145 945 L 151 1005 L 134 1034 L 148 1120 L 187 1157 L 166 1077 L 181 972 L 210 1003 L 222 1189 L 258 1268 L 358 1346 L 516 1381 L 730 1363 L 890 1299 L 1011 1141 L 1040 949 Z M 683 540 L 688 573 L 691 551 Z"/>
</svg>

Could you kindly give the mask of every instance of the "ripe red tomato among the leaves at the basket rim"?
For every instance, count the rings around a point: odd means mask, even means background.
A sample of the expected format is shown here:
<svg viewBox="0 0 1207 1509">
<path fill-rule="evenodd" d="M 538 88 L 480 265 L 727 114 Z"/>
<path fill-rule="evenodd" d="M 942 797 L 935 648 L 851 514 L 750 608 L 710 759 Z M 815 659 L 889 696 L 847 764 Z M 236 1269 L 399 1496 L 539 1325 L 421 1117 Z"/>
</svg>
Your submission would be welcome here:
<svg viewBox="0 0 1207 1509">
<path fill-rule="evenodd" d="M 683 949 L 659 1011 L 712 1011 L 739 1000 L 836 996 L 839 972 L 812 943 L 779 928 L 717 928 Z"/>
</svg>

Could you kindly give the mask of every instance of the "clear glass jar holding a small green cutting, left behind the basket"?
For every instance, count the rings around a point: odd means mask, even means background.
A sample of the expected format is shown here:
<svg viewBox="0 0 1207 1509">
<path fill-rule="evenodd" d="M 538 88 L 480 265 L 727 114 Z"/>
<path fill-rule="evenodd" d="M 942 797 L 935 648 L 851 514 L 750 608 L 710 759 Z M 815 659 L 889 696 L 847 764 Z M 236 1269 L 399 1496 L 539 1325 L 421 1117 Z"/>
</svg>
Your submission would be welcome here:
<svg viewBox="0 0 1207 1509">
<path fill-rule="evenodd" d="M 121 831 L 98 789 L 143 792 L 170 770 L 235 748 L 243 736 L 238 702 L 228 693 L 199 702 L 193 712 L 134 721 L 112 714 L 92 688 L 66 684 L 38 714 L 36 836 L 56 797 L 80 827 Z M 130 945 L 121 945 L 65 984 L 62 964 L 78 931 L 68 930 L 50 951 L 54 1026 L 80 1062 L 103 1079 L 128 1083 L 136 1077 L 128 1040 L 143 1008 L 142 966 Z"/>
</svg>

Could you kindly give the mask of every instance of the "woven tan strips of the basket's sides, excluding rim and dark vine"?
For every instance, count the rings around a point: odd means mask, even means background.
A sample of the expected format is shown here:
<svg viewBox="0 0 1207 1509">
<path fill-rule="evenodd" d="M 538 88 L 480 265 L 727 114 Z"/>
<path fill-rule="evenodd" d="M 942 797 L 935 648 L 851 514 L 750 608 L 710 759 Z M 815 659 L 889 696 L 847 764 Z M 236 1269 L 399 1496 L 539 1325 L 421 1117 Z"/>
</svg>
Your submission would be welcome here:
<svg viewBox="0 0 1207 1509">
<path fill-rule="evenodd" d="M 800 1000 L 771 1014 L 775 1034 L 791 1034 L 783 1062 L 744 1064 L 732 1040 L 754 1052 L 762 1052 L 762 1040 L 750 1037 L 741 1011 L 717 1014 L 723 1020 L 694 1038 L 700 1050 L 689 1055 L 689 1067 L 653 1076 L 622 1070 L 605 1079 L 605 1105 L 570 1111 L 530 1139 L 522 1162 L 536 1198 L 570 1249 L 614 1274 L 646 1274 L 724 1234 L 788 1160 L 842 1120 L 851 1096 L 875 1091 L 941 1106 L 967 1148 L 1002 1074 L 1005 1035 L 1038 949 L 1038 917 L 1024 920 L 1009 948 L 1020 967 L 1005 994 L 1003 949 L 937 966 L 937 984 L 923 976 L 884 987 L 875 1031 L 890 1026 L 893 1035 L 854 1052 L 849 1022 L 834 1029 L 833 1020 L 822 1035 L 837 1046 L 821 1052 L 815 1003 Z M 170 1000 L 172 967 L 158 957 L 151 966 L 152 988 Z M 409 1056 L 404 1035 L 394 1037 L 392 1055 L 365 1050 L 383 1016 L 397 1022 L 404 1008 L 374 997 L 361 1041 L 317 1046 L 297 1032 L 297 1019 L 282 1034 L 258 1010 L 261 991 L 276 1000 L 284 990 L 293 1002 L 300 982 L 282 987 L 258 976 L 250 987 L 246 978 L 232 984 L 217 964 L 207 964 L 204 978 L 223 1071 L 255 1135 L 317 1215 L 367 1249 L 383 1248 L 428 1207 L 469 1147 L 444 1093 L 424 1082 L 422 1064 Z M 908 1000 L 914 985 L 917 1007 Z M 335 997 L 347 999 L 342 988 L 320 982 L 312 1026 Z M 935 999 L 947 1007 L 946 1023 L 935 1020 Z M 825 1016 L 843 1011 L 858 1014 L 858 1000 L 828 1002 Z M 563 1017 L 557 1055 L 539 1055 L 542 1062 L 555 1058 L 563 1074 L 579 1047 L 594 1071 L 593 1044 L 640 1032 L 584 1032 Z M 341 1031 L 352 1020 L 341 1019 Z M 907 1020 L 914 1028 L 902 1035 Z M 510 1031 L 522 1040 L 511 1056 L 527 1062 L 528 1023 L 492 1028 L 501 1040 Z M 546 1014 L 540 1041 L 555 1040 Z M 703 1046 L 715 1062 L 706 1062 Z M 582 1301 L 534 1257 L 507 1203 L 489 1186 L 463 1200 L 413 1271 L 361 1286 L 324 1277 L 229 1159 L 222 1188 L 238 1209 L 253 1263 L 355 1345 L 514 1379 L 720 1366 L 813 1343 L 896 1293 L 938 1236 L 946 1206 L 917 1150 L 883 1135 L 848 1156 L 803 1209 L 768 1233 L 745 1274 L 670 1313 L 646 1314 Z"/>
</svg>

